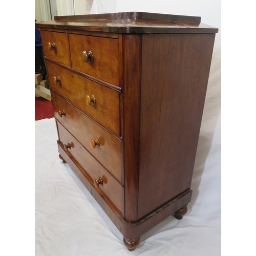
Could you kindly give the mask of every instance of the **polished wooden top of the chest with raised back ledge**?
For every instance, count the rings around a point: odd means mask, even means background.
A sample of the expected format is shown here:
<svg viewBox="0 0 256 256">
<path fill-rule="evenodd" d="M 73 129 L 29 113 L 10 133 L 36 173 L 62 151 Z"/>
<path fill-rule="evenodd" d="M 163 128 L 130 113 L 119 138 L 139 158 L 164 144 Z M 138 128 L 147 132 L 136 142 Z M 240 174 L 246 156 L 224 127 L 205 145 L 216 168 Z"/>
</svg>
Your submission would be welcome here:
<svg viewBox="0 0 256 256">
<path fill-rule="evenodd" d="M 58 16 L 38 26 L 123 34 L 218 33 L 217 28 L 202 24 L 201 17 L 145 12 Z"/>
</svg>

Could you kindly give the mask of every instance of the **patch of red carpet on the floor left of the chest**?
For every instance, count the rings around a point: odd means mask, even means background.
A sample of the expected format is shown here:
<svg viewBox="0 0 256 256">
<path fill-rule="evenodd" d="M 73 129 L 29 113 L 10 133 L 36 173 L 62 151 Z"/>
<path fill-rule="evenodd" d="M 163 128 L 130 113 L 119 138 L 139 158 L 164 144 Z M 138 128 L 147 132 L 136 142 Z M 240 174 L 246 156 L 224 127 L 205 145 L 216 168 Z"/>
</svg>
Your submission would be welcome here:
<svg viewBox="0 0 256 256">
<path fill-rule="evenodd" d="M 35 120 L 54 117 L 52 101 L 35 97 Z"/>
</svg>

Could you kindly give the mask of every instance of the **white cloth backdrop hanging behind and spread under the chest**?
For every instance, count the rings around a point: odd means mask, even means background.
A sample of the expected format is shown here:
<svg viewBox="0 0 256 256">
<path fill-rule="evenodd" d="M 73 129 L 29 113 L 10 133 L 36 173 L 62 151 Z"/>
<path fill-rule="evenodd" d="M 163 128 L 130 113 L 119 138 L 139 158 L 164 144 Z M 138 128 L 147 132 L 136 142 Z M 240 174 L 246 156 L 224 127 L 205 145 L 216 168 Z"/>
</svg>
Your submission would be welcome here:
<svg viewBox="0 0 256 256">
<path fill-rule="evenodd" d="M 144 11 L 195 15 L 219 28 L 212 56 L 186 216 L 172 216 L 141 236 L 129 252 L 91 194 L 58 159 L 54 119 L 35 122 L 35 254 L 221 255 L 221 7 L 220 1 L 94 0 L 91 13 Z"/>
</svg>

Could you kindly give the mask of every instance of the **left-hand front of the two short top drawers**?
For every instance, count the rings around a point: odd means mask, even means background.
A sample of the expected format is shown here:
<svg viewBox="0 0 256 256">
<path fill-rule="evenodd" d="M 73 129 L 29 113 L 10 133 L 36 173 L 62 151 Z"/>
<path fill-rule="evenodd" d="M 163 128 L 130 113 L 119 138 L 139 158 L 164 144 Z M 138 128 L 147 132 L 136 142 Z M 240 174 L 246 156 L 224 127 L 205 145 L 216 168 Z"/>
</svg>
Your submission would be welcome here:
<svg viewBox="0 0 256 256">
<path fill-rule="evenodd" d="M 54 59 L 70 67 L 69 42 L 66 33 L 51 32 L 41 30 L 42 47 L 46 57 Z M 48 44 L 55 44 L 55 51 L 49 50 Z"/>
</svg>

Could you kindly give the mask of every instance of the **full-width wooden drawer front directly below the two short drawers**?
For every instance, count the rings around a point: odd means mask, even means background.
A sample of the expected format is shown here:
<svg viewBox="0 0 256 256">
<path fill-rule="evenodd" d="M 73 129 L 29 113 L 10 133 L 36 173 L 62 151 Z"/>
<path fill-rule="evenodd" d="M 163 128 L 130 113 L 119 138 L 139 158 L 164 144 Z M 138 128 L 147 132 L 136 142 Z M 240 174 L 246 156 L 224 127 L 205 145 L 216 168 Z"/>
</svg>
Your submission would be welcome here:
<svg viewBox="0 0 256 256">
<path fill-rule="evenodd" d="M 51 87 L 61 95 L 74 102 L 81 110 L 88 113 L 98 123 L 120 135 L 119 93 L 90 79 L 79 76 L 47 61 Z M 54 77 L 60 83 L 54 83 Z M 56 80 L 55 80 L 56 82 Z M 95 105 L 87 104 L 87 96 L 95 97 Z"/>
</svg>

